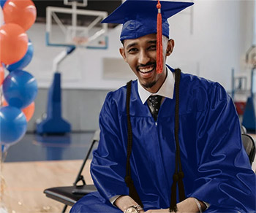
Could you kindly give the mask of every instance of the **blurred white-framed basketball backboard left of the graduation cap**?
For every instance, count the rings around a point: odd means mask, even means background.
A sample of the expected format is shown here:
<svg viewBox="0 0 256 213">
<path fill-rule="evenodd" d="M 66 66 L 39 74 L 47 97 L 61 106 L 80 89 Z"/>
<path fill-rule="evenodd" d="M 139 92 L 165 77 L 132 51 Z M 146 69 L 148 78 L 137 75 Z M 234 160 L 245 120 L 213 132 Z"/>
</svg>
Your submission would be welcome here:
<svg viewBox="0 0 256 213">
<path fill-rule="evenodd" d="M 93 49 L 108 48 L 108 25 L 100 23 L 108 12 L 77 9 L 87 1 L 64 0 L 72 8 L 47 7 L 46 44 L 48 46 L 78 46 Z"/>
</svg>

